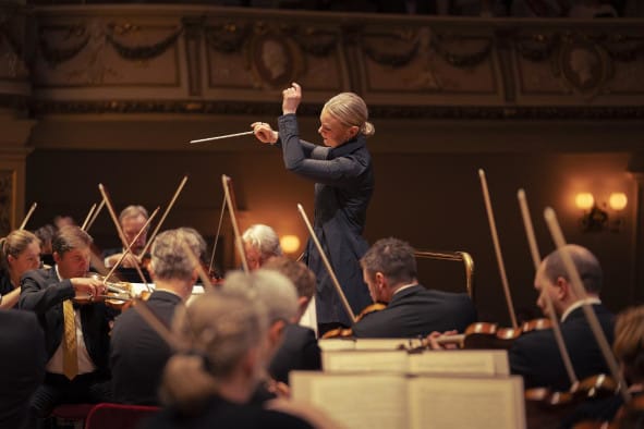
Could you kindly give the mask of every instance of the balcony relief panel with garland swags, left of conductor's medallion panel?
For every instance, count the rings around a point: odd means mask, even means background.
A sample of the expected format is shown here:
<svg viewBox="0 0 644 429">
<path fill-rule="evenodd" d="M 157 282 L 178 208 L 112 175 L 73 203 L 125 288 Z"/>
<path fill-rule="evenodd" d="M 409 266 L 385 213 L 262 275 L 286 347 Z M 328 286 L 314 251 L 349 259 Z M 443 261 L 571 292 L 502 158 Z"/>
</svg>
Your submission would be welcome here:
<svg viewBox="0 0 644 429">
<path fill-rule="evenodd" d="M 179 84 L 181 25 L 105 22 L 47 24 L 38 28 L 39 86 Z M 149 73 L 149 69 L 155 73 Z"/>
</svg>

